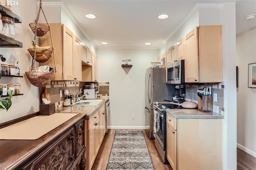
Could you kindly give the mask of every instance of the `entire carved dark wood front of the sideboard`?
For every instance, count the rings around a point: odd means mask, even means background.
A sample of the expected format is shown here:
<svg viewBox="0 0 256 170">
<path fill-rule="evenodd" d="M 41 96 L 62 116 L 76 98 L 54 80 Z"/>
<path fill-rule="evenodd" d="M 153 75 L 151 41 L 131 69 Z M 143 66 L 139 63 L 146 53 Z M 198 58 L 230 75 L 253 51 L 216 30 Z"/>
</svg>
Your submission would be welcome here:
<svg viewBox="0 0 256 170">
<path fill-rule="evenodd" d="M 85 170 L 84 119 L 60 134 L 32 160 L 21 166 L 22 170 Z"/>
</svg>

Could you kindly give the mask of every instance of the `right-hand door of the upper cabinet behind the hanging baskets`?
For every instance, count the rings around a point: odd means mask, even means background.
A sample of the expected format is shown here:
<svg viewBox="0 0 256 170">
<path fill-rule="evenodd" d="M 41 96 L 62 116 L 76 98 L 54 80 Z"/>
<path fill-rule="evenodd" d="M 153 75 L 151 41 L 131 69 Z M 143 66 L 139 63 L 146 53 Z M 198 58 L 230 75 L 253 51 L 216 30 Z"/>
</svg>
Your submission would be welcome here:
<svg viewBox="0 0 256 170">
<path fill-rule="evenodd" d="M 73 80 L 82 81 L 81 42 L 73 37 Z"/>
</svg>

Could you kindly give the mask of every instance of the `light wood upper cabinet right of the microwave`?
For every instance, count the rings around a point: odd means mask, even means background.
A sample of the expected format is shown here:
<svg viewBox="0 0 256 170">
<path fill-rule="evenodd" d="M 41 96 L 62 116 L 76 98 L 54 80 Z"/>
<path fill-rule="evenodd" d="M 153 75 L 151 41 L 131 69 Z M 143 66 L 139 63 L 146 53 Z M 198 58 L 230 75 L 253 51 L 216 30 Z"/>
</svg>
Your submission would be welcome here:
<svg viewBox="0 0 256 170">
<path fill-rule="evenodd" d="M 185 82 L 222 82 L 222 25 L 203 25 L 186 35 Z"/>
</svg>

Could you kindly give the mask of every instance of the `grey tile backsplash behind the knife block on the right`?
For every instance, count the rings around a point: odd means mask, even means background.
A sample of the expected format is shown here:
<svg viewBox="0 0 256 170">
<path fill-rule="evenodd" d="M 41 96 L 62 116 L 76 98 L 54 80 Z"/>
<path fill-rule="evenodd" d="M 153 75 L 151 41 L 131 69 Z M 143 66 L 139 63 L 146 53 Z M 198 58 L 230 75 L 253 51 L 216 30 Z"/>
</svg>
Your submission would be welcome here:
<svg viewBox="0 0 256 170">
<path fill-rule="evenodd" d="M 185 85 L 185 100 L 198 103 L 197 90 L 212 86 L 212 96 L 217 94 L 217 102 L 213 102 L 213 111 L 224 115 L 224 85 L 223 83 L 205 83 L 203 85 Z"/>
</svg>

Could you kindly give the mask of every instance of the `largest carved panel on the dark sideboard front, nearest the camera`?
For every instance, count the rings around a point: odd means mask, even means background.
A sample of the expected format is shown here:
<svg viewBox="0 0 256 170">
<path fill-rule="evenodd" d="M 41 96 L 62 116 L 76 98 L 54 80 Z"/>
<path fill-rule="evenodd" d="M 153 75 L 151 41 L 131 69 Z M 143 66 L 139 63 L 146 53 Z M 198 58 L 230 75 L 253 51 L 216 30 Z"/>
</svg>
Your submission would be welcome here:
<svg viewBox="0 0 256 170">
<path fill-rule="evenodd" d="M 22 170 L 68 170 L 74 159 L 74 128 L 46 148 L 36 158 L 22 166 Z"/>
</svg>

